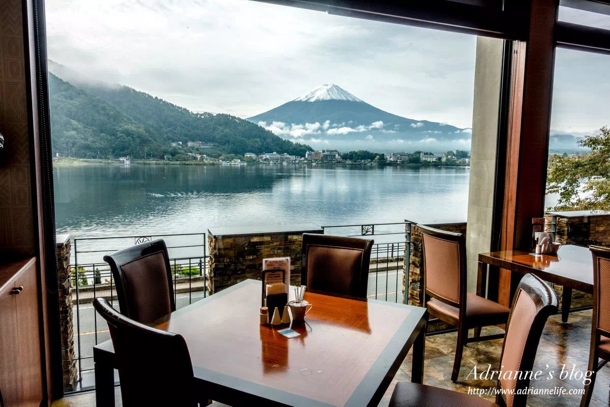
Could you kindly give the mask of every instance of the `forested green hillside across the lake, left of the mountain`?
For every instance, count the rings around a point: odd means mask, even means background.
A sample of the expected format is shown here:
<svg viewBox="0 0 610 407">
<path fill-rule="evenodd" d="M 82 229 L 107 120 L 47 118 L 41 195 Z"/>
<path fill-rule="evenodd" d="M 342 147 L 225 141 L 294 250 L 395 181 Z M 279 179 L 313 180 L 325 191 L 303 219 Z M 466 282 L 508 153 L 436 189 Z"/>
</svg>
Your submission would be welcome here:
<svg viewBox="0 0 610 407">
<path fill-rule="evenodd" d="M 257 124 L 226 114 L 193 113 L 126 86 L 79 87 L 49 74 L 51 140 L 54 153 L 97 158 L 187 159 L 186 153 L 221 154 L 277 151 L 304 156 L 307 145 L 284 140 Z M 218 143 L 208 151 L 181 152 L 171 142 Z"/>
</svg>

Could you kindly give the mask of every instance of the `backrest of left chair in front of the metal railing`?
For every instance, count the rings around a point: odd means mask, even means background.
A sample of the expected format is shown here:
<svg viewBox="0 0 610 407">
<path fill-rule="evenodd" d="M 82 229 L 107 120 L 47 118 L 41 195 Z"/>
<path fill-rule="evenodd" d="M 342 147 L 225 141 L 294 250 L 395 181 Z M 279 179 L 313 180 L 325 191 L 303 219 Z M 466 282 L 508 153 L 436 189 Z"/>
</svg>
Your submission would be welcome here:
<svg viewBox="0 0 610 407">
<path fill-rule="evenodd" d="M 151 323 L 176 311 L 170 259 L 163 240 L 141 243 L 104 256 L 117 286 L 121 313 Z"/>
</svg>

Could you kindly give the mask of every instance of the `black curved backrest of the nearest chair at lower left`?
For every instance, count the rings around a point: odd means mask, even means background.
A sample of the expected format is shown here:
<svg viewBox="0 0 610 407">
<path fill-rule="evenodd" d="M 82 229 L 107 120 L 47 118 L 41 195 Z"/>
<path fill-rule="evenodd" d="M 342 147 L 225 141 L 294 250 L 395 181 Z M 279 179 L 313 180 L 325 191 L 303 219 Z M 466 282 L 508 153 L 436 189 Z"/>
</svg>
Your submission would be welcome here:
<svg viewBox="0 0 610 407">
<path fill-rule="evenodd" d="M 104 298 L 93 306 L 108 323 L 124 406 L 196 407 L 193 366 L 181 335 L 135 322 Z"/>
</svg>

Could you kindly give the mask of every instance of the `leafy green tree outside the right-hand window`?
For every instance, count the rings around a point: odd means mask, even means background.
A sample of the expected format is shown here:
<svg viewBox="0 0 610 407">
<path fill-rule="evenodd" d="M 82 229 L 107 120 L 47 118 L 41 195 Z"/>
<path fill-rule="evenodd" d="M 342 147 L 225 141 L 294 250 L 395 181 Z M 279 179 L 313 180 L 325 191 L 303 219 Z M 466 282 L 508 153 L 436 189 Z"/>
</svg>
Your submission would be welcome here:
<svg viewBox="0 0 610 407">
<path fill-rule="evenodd" d="M 598 135 L 587 135 L 578 145 L 589 154 L 549 159 L 547 193 L 559 193 L 556 206 L 549 209 L 610 209 L 610 129 L 604 126 Z"/>
</svg>

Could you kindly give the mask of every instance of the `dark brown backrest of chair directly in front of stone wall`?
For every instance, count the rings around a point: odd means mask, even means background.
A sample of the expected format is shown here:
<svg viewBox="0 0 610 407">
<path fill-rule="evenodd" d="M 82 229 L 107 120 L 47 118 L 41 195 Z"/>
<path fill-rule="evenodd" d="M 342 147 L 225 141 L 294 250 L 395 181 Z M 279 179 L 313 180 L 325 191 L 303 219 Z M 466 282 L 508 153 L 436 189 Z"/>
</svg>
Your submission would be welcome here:
<svg viewBox="0 0 610 407">
<path fill-rule="evenodd" d="M 308 290 L 366 298 L 373 240 L 303 234 L 301 284 Z"/>
</svg>

